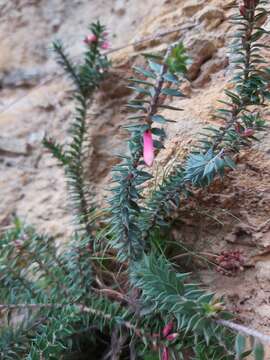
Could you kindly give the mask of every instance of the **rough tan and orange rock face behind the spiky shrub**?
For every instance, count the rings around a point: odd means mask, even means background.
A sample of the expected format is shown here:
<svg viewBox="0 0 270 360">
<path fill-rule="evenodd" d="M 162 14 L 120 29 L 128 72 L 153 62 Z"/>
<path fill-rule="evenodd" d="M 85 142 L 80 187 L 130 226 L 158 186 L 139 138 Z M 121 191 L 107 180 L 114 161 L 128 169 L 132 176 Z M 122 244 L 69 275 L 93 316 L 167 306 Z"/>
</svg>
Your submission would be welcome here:
<svg viewBox="0 0 270 360">
<path fill-rule="evenodd" d="M 193 59 L 184 84 L 187 98 L 175 100 L 185 110 L 169 112 L 176 123 L 167 129 L 166 150 L 154 173 L 189 147 L 213 112 L 232 74 L 228 16 L 234 1 L 223 0 L 0 0 L 0 226 L 18 216 L 39 231 L 67 241 L 71 217 L 63 172 L 46 153 L 46 133 L 68 139 L 72 104 L 70 84 L 56 65 L 49 47 L 53 39 L 68 44 L 72 57 L 83 51 L 87 26 L 96 18 L 107 25 L 113 70 L 96 94 L 89 116 L 89 179 L 102 202 L 110 182 L 114 154 L 125 151 L 124 104 L 131 65 L 140 52 L 163 49 L 181 39 Z M 270 28 L 270 22 L 264 24 Z M 169 32 L 166 36 L 158 34 Z M 270 60 L 270 54 L 266 54 Z M 265 111 L 266 116 L 268 110 Z M 175 216 L 174 237 L 193 245 L 208 260 L 223 250 L 242 252 L 243 269 L 233 277 L 200 267 L 211 288 L 225 294 L 246 324 L 270 334 L 270 134 L 240 154 L 239 166 L 225 183 L 198 193 Z M 63 240 L 64 239 L 64 240 Z M 194 260 L 194 259 L 193 259 Z M 202 262 L 195 259 L 198 265 Z M 204 263 L 205 264 L 205 263 Z"/>
</svg>

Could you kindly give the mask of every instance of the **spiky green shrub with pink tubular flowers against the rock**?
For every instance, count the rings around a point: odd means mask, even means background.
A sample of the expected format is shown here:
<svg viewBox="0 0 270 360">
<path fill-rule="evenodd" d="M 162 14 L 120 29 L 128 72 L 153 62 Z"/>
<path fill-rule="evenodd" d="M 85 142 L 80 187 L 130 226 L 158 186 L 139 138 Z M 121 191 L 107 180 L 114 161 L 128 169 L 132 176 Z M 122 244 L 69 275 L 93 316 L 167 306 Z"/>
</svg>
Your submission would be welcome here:
<svg viewBox="0 0 270 360">
<path fill-rule="evenodd" d="M 82 64 L 75 65 L 60 42 L 59 63 L 74 85 L 72 140 L 44 145 L 63 167 L 74 208 L 76 229 L 64 251 L 51 236 L 36 234 L 16 221 L 0 242 L 0 354 L 2 359 L 78 359 L 90 344 L 103 359 L 263 359 L 269 337 L 232 321 L 222 299 L 178 272 L 156 237 L 169 226 L 170 214 L 203 188 L 236 167 L 234 158 L 266 129 L 261 109 L 269 98 L 258 23 L 267 16 L 263 0 L 244 0 L 233 17 L 238 30 L 234 91 L 225 90 L 216 117 L 188 156 L 149 195 L 145 189 L 157 152 L 164 148 L 163 109 L 179 111 L 169 98 L 184 97 L 179 85 L 187 57 L 182 44 L 165 54 L 146 54 L 146 67 L 134 67 L 135 97 L 124 128 L 128 154 L 112 170 L 113 188 L 102 218 L 89 193 L 84 159 L 88 146 L 87 111 L 92 95 L 110 71 L 105 28 L 91 25 Z M 102 220 L 102 221 L 101 221 Z M 251 343 L 246 343 L 246 337 Z M 106 343 L 106 348 L 104 347 Z M 77 354 L 77 355 L 76 355 Z M 94 355 L 95 354 L 95 355 Z M 77 356 L 77 357 L 75 357 Z M 93 358 L 92 357 L 92 358 Z"/>
</svg>

